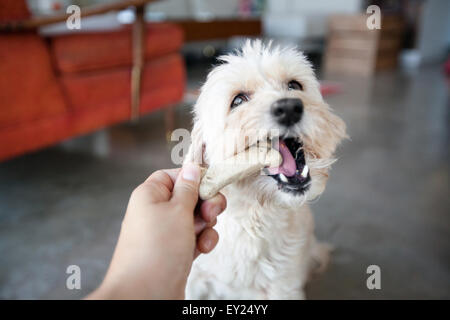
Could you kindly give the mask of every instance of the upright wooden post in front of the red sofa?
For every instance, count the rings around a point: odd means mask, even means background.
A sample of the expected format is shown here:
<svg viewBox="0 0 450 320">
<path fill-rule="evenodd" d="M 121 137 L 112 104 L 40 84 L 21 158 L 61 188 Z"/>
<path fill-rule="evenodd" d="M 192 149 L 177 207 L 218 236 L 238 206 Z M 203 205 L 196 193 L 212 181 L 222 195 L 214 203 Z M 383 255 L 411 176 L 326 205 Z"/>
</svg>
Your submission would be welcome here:
<svg viewBox="0 0 450 320">
<path fill-rule="evenodd" d="M 131 120 L 139 118 L 141 98 L 142 69 L 144 67 L 144 38 L 145 38 L 145 6 L 136 7 L 136 20 L 133 24 L 133 67 L 131 70 Z"/>
</svg>

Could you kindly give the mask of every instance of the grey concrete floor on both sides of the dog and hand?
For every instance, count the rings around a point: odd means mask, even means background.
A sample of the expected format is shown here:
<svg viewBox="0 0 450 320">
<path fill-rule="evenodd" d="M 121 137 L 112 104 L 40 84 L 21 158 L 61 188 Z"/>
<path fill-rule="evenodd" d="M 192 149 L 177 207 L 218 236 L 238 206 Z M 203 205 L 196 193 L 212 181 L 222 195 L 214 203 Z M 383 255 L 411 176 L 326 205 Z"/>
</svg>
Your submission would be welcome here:
<svg viewBox="0 0 450 320">
<path fill-rule="evenodd" d="M 190 71 L 195 87 L 205 70 Z M 352 140 L 312 205 L 335 246 L 311 299 L 450 298 L 449 108 L 438 67 L 335 79 Z M 180 105 L 177 126 L 190 127 Z M 172 167 L 162 113 L 0 164 L 0 298 L 78 299 L 101 281 L 133 188 Z M 81 268 L 81 290 L 66 268 Z M 366 269 L 381 268 L 368 290 Z"/>
</svg>

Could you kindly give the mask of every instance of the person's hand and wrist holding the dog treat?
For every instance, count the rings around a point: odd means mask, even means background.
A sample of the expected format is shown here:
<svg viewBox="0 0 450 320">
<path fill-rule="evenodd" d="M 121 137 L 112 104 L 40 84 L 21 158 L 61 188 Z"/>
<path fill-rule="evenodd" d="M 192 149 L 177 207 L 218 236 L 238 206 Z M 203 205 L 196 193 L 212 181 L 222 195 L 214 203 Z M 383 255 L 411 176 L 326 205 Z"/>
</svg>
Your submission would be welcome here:
<svg viewBox="0 0 450 320">
<path fill-rule="evenodd" d="M 192 262 L 214 249 L 222 194 L 199 201 L 200 169 L 154 172 L 131 194 L 114 255 L 86 299 L 183 299 Z"/>
</svg>

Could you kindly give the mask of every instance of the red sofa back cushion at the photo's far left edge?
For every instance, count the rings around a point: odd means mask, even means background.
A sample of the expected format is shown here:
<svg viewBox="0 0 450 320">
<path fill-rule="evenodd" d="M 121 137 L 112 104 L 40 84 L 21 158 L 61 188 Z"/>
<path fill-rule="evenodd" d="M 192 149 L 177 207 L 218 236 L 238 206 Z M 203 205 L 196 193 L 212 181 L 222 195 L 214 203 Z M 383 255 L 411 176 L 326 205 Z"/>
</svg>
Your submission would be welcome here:
<svg viewBox="0 0 450 320">
<path fill-rule="evenodd" d="M 0 127 L 65 111 L 44 41 L 35 33 L 0 35 Z"/>
</svg>

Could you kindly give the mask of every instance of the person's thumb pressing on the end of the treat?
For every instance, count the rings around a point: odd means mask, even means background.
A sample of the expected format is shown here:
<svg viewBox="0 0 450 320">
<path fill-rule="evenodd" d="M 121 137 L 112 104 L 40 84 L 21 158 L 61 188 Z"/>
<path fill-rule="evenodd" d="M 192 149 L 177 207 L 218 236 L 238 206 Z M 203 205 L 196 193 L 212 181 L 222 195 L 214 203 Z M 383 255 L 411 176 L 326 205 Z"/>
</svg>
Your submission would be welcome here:
<svg viewBox="0 0 450 320">
<path fill-rule="evenodd" d="M 198 202 L 200 186 L 200 167 L 195 163 L 185 163 L 173 187 L 172 201 L 182 204 L 194 212 Z"/>
</svg>

